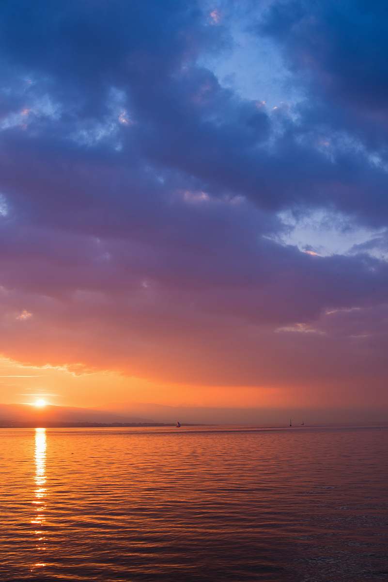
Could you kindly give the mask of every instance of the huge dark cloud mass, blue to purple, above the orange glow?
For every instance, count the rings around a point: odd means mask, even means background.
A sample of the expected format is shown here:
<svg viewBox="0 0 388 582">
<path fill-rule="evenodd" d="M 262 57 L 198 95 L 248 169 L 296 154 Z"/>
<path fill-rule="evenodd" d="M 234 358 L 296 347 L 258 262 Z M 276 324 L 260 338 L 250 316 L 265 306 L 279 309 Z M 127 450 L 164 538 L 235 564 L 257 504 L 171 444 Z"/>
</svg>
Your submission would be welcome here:
<svg viewBox="0 0 388 582">
<path fill-rule="evenodd" d="M 343 349 L 342 377 L 364 361 L 354 322 L 325 313 L 383 310 L 386 262 L 365 254 L 373 243 L 330 257 L 286 246 L 278 215 L 321 208 L 387 225 L 385 61 L 371 40 L 383 7 L 352 6 L 274 2 L 254 25 L 306 72 L 307 102 L 268 111 L 199 65 L 232 42 L 202 3 L 3 3 L 1 349 L 144 374 L 148 362 L 169 379 L 180 359 L 181 377 L 250 384 L 259 368 L 274 380 L 275 356 L 282 374 L 302 374 L 296 346 L 309 381 L 317 350 Z M 343 347 L 328 345 L 336 325 L 349 325 Z"/>
</svg>

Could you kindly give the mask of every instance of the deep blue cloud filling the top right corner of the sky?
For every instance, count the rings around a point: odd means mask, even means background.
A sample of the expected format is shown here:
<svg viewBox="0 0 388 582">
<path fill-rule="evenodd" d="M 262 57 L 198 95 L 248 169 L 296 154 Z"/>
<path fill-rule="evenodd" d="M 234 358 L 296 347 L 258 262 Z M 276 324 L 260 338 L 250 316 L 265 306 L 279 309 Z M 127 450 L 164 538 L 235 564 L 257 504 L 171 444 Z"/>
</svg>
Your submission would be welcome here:
<svg viewBox="0 0 388 582">
<path fill-rule="evenodd" d="M 364 0 L 273 2 L 258 34 L 274 38 L 312 91 L 315 120 L 385 147 L 388 7 Z"/>
</svg>

